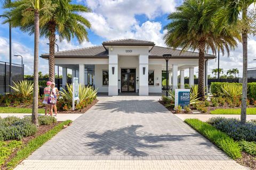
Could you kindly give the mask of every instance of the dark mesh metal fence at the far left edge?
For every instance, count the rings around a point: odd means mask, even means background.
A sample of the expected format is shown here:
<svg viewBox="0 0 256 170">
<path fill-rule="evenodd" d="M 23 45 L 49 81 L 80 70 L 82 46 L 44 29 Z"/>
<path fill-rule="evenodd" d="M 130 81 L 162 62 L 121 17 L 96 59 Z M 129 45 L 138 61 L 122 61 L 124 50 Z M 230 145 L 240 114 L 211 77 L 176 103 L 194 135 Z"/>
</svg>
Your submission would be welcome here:
<svg viewBox="0 0 256 170">
<path fill-rule="evenodd" d="M 10 63 L 0 61 L 0 94 L 9 92 L 10 90 Z M 24 67 L 20 64 L 12 63 L 12 81 L 20 81 L 23 79 Z M 11 84 L 12 86 L 13 84 Z"/>
</svg>

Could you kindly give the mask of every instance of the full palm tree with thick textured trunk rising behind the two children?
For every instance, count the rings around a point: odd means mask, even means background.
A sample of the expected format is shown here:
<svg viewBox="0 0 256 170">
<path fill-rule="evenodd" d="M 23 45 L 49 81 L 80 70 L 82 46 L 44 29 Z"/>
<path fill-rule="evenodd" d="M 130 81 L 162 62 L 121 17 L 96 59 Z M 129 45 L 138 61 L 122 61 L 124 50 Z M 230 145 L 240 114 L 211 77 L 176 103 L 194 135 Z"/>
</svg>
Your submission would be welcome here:
<svg viewBox="0 0 256 170">
<path fill-rule="evenodd" d="M 20 5 L 20 2 L 28 2 L 29 0 L 19 0 L 11 3 L 11 10 L 6 14 L 11 16 L 13 27 L 21 27 L 23 31 L 28 31 L 30 34 L 34 33 L 34 23 L 31 17 L 22 17 L 19 11 L 27 8 L 26 5 Z M 54 10 L 41 15 L 40 35 L 49 39 L 49 80 L 55 80 L 55 61 L 54 61 L 54 47 L 56 41 L 56 33 L 58 33 L 60 40 L 76 37 L 79 43 L 88 40 L 86 28 L 90 28 L 91 24 L 79 12 L 90 12 L 90 9 L 83 5 L 70 4 L 70 0 L 43 0 L 44 7 L 49 6 L 49 3 L 55 7 Z"/>
</svg>

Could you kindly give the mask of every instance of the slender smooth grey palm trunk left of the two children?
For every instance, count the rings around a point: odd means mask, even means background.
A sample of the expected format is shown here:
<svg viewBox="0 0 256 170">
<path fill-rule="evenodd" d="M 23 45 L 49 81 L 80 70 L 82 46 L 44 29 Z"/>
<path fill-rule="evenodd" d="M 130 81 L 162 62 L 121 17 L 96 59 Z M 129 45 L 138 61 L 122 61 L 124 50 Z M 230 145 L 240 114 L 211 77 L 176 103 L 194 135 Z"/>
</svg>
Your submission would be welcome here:
<svg viewBox="0 0 256 170">
<path fill-rule="evenodd" d="M 39 0 L 38 0 L 39 1 Z M 39 4 L 39 3 L 38 3 Z M 38 50 L 39 50 L 39 10 L 35 9 L 35 47 L 34 47 L 34 93 L 32 108 L 32 123 L 37 127 L 38 124 Z"/>
</svg>

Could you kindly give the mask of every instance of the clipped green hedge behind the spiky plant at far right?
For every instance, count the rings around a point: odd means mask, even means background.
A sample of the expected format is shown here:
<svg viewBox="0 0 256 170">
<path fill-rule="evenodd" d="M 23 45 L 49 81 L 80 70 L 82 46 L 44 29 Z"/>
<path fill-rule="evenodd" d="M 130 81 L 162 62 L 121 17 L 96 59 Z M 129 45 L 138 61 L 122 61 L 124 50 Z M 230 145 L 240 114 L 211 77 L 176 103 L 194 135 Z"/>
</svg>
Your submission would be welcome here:
<svg viewBox="0 0 256 170">
<path fill-rule="evenodd" d="M 221 88 L 222 84 L 227 84 L 228 82 L 212 82 L 211 83 L 211 92 L 212 94 L 217 94 L 217 89 Z M 230 84 L 230 83 L 229 83 Z M 240 84 L 242 86 L 242 83 L 231 83 L 231 84 Z M 256 82 L 248 83 L 247 84 L 248 89 L 248 98 L 256 99 Z"/>
</svg>

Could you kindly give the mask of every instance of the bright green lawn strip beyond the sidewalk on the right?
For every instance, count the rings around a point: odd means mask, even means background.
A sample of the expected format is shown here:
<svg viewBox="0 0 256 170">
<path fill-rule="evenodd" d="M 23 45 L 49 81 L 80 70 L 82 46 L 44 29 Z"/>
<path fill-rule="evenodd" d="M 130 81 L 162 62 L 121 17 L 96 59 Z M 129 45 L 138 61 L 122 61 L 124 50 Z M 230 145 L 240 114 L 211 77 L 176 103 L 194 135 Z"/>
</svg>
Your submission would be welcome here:
<svg viewBox="0 0 256 170">
<path fill-rule="evenodd" d="M 237 108 L 237 109 L 218 108 L 218 109 L 215 109 L 214 111 L 211 111 L 210 113 L 211 114 L 223 114 L 223 115 L 239 115 L 239 114 L 241 114 L 241 109 L 240 108 Z M 247 115 L 256 115 L 256 107 L 247 108 L 246 113 L 247 113 Z"/>
</svg>

